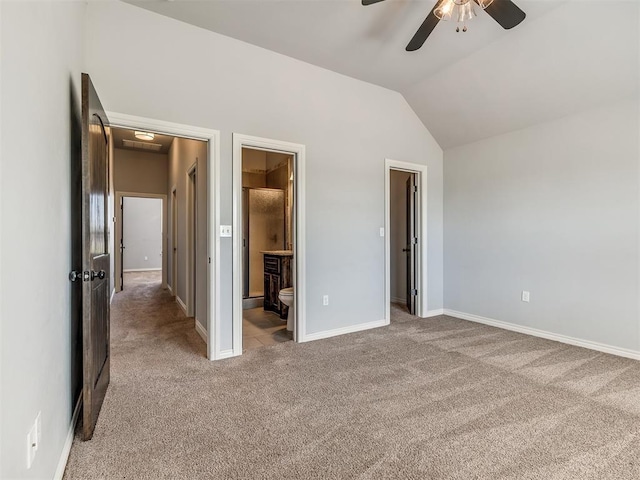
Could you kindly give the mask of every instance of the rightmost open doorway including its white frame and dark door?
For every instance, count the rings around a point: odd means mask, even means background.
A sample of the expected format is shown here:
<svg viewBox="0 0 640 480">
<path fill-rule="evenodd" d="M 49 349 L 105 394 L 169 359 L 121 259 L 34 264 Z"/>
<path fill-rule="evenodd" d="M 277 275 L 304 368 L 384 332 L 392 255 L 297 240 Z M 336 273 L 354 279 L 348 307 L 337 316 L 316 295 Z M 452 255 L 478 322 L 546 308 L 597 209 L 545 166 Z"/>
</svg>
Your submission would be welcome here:
<svg viewBox="0 0 640 480">
<path fill-rule="evenodd" d="M 385 308 L 427 312 L 427 167 L 385 161 Z M 393 307 L 392 307 L 393 304 Z"/>
</svg>

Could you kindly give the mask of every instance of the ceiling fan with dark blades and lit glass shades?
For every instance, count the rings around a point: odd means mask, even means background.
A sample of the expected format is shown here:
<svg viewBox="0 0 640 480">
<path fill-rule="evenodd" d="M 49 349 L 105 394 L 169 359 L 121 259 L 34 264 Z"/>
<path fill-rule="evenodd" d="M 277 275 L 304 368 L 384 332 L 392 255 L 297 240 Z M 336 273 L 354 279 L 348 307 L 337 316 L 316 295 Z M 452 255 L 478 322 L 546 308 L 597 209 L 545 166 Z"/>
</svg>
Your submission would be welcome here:
<svg viewBox="0 0 640 480">
<path fill-rule="evenodd" d="M 362 5 L 373 5 L 382 1 L 384 0 L 362 0 Z M 407 45 L 407 52 L 418 50 L 440 20 L 455 18 L 456 21 L 463 24 L 462 28 L 456 27 L 456 31 L 466 32 L 467 26 L 464 22 L 476 16 L 473 8 L 474 2 L 505 30 L 519 25 L 526 17 L 526 14 L 511 0 L 438 0 Z"/>
</svg>

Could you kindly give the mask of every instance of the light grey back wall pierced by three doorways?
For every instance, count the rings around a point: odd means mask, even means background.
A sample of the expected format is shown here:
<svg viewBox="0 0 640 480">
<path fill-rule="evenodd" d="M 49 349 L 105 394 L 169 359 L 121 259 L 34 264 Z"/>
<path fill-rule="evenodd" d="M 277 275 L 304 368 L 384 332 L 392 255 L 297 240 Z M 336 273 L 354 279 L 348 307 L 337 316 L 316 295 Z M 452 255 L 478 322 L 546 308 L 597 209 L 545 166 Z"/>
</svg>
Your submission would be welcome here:
<svg viewBox="0 0 640 480">
<path fill-rule="evenodd" d="M 105 108 L 221 131 L 222 224 L 233 132 L 307 146 L 308 333 L 384 318 L 385 157 L 429 166 L 427 294 L 442 307 L 442 150 L 401 95 L 128 4 L 88 9 L 87 69 Z M 226 350 L 231 239 L 221 256 Z"/>
</svg>

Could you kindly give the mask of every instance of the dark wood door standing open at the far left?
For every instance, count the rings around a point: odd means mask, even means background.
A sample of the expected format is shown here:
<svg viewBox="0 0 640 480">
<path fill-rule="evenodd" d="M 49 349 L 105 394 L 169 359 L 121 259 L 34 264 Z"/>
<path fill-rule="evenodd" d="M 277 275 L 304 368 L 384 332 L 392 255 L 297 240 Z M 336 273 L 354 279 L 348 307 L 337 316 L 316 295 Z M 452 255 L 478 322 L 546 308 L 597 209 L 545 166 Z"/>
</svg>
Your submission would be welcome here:
<svg viewBox="0 0 640 480">
<path fill-rule="evenodd" d="M 109 385 L 107 116 L 82 74 L 82 436 L 89 440 Z"/>
</svg>

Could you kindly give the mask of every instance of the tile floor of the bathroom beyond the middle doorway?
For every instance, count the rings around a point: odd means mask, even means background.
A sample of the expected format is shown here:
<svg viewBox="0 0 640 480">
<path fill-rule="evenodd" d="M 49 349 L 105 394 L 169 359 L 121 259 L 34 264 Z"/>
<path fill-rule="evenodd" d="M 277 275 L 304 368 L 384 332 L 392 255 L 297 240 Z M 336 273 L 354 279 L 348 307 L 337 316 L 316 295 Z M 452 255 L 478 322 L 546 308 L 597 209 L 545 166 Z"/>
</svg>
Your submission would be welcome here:
<svg viewBox="0 0 640 480">
<path fill-rule="evenodd" d="M 287 321 L 262 307 L 243 310 L 242 349 L 260 348 L 291 340 L 287 332 Z"/>
</svg>

